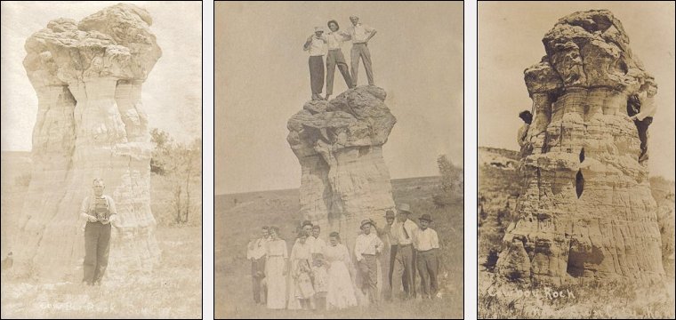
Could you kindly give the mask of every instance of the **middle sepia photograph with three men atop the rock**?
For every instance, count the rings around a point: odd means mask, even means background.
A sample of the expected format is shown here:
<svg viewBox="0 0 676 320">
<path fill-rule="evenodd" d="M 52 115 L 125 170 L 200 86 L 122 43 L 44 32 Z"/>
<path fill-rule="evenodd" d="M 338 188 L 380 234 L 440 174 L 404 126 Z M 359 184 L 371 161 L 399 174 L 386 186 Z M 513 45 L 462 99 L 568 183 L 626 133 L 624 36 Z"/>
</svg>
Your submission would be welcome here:
<svg viewBox="0 0 676 320">
<path fill-rule="evenodd" d="M 463 2 L 217 1 L 214 79 L 216 318 L 463 317 Z"/>
</svg>

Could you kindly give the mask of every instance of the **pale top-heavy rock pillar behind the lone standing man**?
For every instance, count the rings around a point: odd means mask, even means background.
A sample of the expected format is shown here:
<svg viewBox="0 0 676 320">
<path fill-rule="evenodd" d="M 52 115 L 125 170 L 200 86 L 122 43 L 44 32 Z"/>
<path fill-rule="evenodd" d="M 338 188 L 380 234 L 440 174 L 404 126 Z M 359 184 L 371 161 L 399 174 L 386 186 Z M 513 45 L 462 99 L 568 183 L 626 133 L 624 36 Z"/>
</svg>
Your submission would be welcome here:
<svg viewBox="0 0 676 320">
<path fill-rule="evenodd" d="M 36 276 L 81 276 L 80 204 L 94 178 L 117 204 L 109 275 L 159 258 L 150 212 L 148 117 L 141 86 L 162 52 L 149 13 L 116 4 L 79 23 L 57 19 L 30 36 L 24 67 L 36 90 L 32 179 L 14 237 L 16 260 Z"/>
</svg>

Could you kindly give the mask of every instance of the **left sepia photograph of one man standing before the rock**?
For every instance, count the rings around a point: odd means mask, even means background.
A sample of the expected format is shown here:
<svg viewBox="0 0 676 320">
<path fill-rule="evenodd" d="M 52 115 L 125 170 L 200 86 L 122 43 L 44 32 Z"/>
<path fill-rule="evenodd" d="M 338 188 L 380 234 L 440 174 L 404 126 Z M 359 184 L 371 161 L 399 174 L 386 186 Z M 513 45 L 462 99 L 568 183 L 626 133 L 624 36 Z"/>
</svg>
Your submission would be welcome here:
<svg viewBox="0 0 676 320">
<path fill-rule="evenodd" d="M 202 316 L 202 4 L 2 2 L 2 318 Z"/>
</svg>

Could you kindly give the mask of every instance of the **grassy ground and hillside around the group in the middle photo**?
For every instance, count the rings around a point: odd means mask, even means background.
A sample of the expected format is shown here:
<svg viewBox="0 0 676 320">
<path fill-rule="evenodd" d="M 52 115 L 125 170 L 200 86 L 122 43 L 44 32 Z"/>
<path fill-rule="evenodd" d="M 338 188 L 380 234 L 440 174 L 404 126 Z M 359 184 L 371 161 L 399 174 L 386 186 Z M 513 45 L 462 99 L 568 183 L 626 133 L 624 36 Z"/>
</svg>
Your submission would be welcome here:
<svg viewBox="0 0 676 320">
<path fill-rule="evenodd" d="M 443 248 L 444 265 L 439 281 L 440 300 L 407 300 L 385 302 L 370 308 L 349 308 L 340 311 L 270 310 L 253 303 L 251 265 L 245 260 L 245 245 L 258 236 L 260 227 L 277 225 L 287 243 L 298 214 L 298 190 L 275 190 L 215 198 L 215 316 L 229 318 L 458 318 L 463 316 L 463 204 L 436 208 L 432 195 L 439 188 L 439 178 L 393 180 L 397 203 L 408 203 L 415 215 L 430 213 L 434 217 Z M 237 202 L 235 201 L 237 199 Z M 237 228 L 223 228 L 237 224 Z M 291 248 L 289 248 L 290 251 Z"/>
</svg>

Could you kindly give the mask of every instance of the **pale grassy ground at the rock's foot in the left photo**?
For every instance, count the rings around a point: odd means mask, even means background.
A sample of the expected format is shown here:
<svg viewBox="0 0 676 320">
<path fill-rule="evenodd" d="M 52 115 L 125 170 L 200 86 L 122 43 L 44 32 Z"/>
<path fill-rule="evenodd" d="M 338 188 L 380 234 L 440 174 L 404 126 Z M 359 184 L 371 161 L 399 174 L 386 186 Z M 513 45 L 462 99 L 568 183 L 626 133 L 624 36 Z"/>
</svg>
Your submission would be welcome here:
<svg viewBox="0 0 676 320">
<path fill-rule="evenodd" d="M 162 262 L 152 274 L 100 287 L 3 276 L 2 317 L 197 318 L 202 313 L 201 228 L 158 228 Z M 111 261 L 114 263 L 114 261 Z"/>
</svg>

